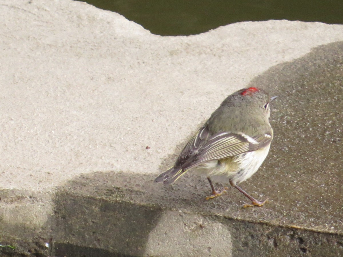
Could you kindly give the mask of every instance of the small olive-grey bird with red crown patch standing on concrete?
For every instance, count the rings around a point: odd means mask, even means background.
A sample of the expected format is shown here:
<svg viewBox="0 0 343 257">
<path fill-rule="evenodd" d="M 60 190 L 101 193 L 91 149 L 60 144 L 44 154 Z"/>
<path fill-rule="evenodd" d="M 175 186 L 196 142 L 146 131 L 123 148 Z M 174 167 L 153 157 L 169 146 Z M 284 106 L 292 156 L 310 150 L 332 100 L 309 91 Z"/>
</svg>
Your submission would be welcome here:
<svg viewBox="0 0 343 257">
<path fill-rule="evenodd" d="M 160 174 L 155 182 L 171 184 L 192 169 L 207 176 L 212 195 L 206 200 L 227 193 L 228 187 L 217 191 L 212 180 L 230 183 L 248 197 L 251 204 L 263 206 L 268 199 L 258 201 L 239 183 L 249 179 L 267 157 L 273 139 L 269 123 L 269 97 L 262 88 L 243 88 L 229 95 L 210 119 L 198 130 L 181 151 L 173 167 Z"/>
</svg>

